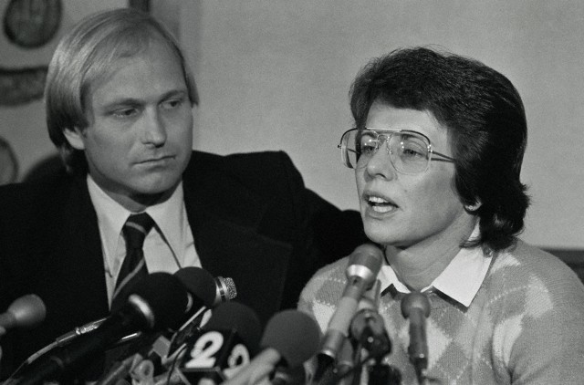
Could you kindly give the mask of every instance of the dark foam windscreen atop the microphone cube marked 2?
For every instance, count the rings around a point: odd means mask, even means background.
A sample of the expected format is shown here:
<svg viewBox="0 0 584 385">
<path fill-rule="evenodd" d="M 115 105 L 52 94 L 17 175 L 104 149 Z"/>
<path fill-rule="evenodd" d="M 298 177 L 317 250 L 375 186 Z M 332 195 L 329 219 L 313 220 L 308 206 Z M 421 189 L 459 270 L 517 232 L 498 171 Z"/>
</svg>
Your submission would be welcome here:
<svg viewBox="0 0 584 385">
<path fill-rule="evenodd" d="M 235 330 L 252 356 L 259 349 L 262 327 L 251 307 L 238 302 L 224 302 L 213 309 L 203 330 Z"/>
</svg>

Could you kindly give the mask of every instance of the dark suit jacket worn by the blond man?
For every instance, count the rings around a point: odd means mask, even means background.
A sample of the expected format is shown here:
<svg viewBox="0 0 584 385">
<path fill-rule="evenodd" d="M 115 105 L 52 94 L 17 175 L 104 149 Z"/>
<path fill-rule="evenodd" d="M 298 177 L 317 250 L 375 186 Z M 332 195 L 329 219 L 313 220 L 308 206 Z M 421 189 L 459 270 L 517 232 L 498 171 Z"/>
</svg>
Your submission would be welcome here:
<svg viewBox="0 0 584 385">
<path fill-rule="evenodd" d="M 183 174 L 189 223 L 203 268 L 230 276 L 237 300 L 263 323 L 296 307 L 318 267 L 364 242 L 359 213 L 305 188 L 284 152 L 218 156 L 194 151 Z M 58 336 L 108 315 L 97 216 L 85 177 L 65 172 L 0 187 L 0 311 L 35 293 L 47 318 L 10 331 L 3 377 Z"/>
</svg>

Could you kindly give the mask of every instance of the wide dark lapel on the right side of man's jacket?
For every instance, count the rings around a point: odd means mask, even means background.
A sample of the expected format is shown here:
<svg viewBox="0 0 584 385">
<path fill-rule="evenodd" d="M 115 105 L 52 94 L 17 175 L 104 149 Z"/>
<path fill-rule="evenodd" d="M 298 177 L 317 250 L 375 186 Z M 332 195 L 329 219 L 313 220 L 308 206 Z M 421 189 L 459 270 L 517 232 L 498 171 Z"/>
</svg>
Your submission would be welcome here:
<svg viewBox="0 0 584 385">
<path fill-rule="evenodd" d="M 196 158 L 191 166 L 196 167 Z M 213 276 L 233 278 L 237 300 L 254 308 L 265 323 L 280 307 L 292 246 L 258 232 L 267 205 L 255 192 L 228 170 L 201 169 L 187 169 L 185 175 L 193 177 L 183 178 L 201 264 Z"/>
</svg>

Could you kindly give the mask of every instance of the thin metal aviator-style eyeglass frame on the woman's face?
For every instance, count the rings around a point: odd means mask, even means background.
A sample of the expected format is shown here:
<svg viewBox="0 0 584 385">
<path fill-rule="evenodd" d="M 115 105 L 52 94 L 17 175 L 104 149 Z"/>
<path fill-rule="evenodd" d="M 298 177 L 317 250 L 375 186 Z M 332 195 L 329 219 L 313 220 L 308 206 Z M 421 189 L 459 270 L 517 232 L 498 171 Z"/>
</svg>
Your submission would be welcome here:
<svg viewBox="0 0 584 385">
<path fill-rule="evenodd" d="M 357 167 L 352 167 L 349 161 L 349 151 L 356 153 L 357 155 L 362 155 L 360 153 L 358 153 L 357 151 L 354 150 L 350 150 L 348 146 L 343 144 L 343 138 L 345 137 L 345 135 L 347 135 L 349 132 L 351 131 L 363 131 L 363 130 L 369 130 L 375 133 L 376 135 L 376 146 L 375 146 L 375 151 L 373 152 L 373 154 L 376 154 L 377 151 L 379 151 L 380 149 L 380 140 L 379 137 L 382 135 L 380 134 L 380 132 L 378 131 L 389 131 L 391 132 L 390 135 L 384 135 L 385 136 L 385 145 L 387 146 L 387 151 L 388 154 L 390 155 L 390 161 L 391 161 L 391 166 L 393 166 L 393 168 L 395 169 L 395 171 L 397 172 L 401 172 L 403 174 L 416 174 L 416 173 L 421 173 L 421 172 L 426 172 L 428 171 L 428 167 L 430 166 L 430 162 L 431 161 L 447 161 L 450 163 L 454 163 L 456 160 L 453 157 L 450 157 L 448 155 L 444 155 L 441 152 L 438 151 L 434 151 L 433 147 L 432 147 L 432 141 L 430 140 L 430 138 L 428 138 L 426 135 L 422 134 L 422 132 L 419 131 L 415 131 L 415 130 L 401 130 L 401 129 L 390 129 L 390 128 L 385 128 L 385 129 L 378 129 L 378 128 L 374 128 L 374 127 L 363 127 L 363 128 L 356 128 L 356 129 L 350 129 L 350 130 L 346 130 L 345 132 L 343 132 L 343 134 L 340 136 L 340 142 L 337 145 L 337 148 L 340 150 L 340 156 L 341 156 L 341 161 L 342 163 L 348 167 L 349 169 L 357 169 Z M 426 161 L 426 168 L 424 170 L 421 170 L 419 172 L 403 172 L 401 170 L 398 170 L 397 167 L 395 167 L 395 164 L 393 164 L 393 160 L 391 159 L 391 149 L 389 146 L 390 140 L 393 137 L 393 135 L 395 134 L 414 134 L 414 135 L 419 135 L 422 137 L 423 140 L 425 140 L 428 144 L 426 146 L 426 151 L 427 151 L 427 160 Z M 347 141 L 347 140 L 345 140 Z M 441 158 L 433 158 L 433 156 L 438 156 Z M 357 166 L 357 164 L 355 164 L 355 166 Z"/>
</svg>

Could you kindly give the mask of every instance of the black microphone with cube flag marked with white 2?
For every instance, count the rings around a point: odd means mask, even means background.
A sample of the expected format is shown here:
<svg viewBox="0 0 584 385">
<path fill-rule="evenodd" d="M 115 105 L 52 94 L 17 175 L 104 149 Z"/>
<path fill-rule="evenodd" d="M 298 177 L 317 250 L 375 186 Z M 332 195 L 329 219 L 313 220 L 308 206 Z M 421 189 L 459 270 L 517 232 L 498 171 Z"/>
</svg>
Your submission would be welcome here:
<svg viewBox="0 0 584 385">
<path fill-rule="evenodd" d="M 245 367 L 258 350 L 261 325 L 254 310 L 237 302 L 215 307 L 199 333 L 187 338 L 178 374 L 184 383 L 219 383 Z"/>
</svg>

